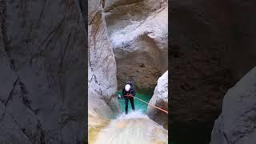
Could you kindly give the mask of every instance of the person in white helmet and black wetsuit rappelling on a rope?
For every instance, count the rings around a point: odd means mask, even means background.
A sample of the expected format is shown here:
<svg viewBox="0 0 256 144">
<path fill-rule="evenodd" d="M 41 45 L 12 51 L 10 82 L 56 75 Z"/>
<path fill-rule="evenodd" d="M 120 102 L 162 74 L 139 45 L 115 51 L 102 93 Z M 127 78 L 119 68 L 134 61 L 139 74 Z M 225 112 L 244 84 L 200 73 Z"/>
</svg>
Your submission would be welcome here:
<svg viewBox="0 0 256 144">
<path fill-rule="evenodd" d="M 122 97 L 125 98 L 125 102 L 126 102 L 126 114 L 128 114 L 129 100 L 130 100 L 130 105 L 132 107 L 132 110 L 134 110 L 134 96 L 135 96 L 134 85 L 130 81 L 126 82 L 126 85 L 122 89 Z"/>
</svg>

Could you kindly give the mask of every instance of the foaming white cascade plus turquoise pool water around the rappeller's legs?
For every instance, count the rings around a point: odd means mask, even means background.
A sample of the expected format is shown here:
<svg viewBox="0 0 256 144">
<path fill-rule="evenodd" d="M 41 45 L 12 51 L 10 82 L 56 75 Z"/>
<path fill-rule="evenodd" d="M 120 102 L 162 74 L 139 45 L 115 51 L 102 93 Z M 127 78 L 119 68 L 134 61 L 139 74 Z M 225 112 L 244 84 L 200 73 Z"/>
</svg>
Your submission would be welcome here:
<svg viewBox="0 0 256 144">
<path fill-rule="evenodd" d="M 120 92 L 118 92 L 120 94 Z M 150 97 L 145 94 L 136 94 L 146 102 Z M 121 106 L 121 113 L 109 122 L 102 122 L 102 129 L 95 136 L 94 144 L 162 144 L 168 143 L 168 130 L 165 130 L 158 123 L 152 121 L 146 115 L 147 105 L 134 99 L 135 111 L 129 110 L 125 114 L 125 103 L 122 98 L 118 99 Z M 129 102 L 130 108 L 130 102 Z M 97 118 L 98 119 L 98 118 Z M 105 125 L 105 126 L 103 126 Z M 99 126 L 101 127 L 101 126 Z"/>
</svg>

